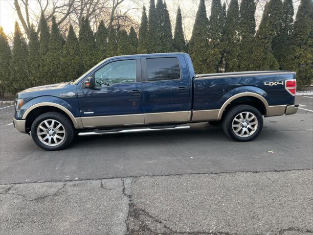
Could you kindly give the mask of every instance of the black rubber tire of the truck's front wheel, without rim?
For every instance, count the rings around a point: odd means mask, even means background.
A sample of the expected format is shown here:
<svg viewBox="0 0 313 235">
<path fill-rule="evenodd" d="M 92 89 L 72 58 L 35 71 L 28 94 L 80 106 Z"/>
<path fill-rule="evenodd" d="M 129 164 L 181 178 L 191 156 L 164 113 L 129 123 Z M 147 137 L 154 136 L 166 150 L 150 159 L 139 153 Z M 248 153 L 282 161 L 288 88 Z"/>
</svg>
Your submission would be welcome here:
<svg viewBox="0 0 313 235">
<path fill-rule="evenodd" d="M 43 121 L 47 119 L 56 120 L 57 122 L 61 123 L 64 127 L 64 131 L 65 131 L 63 135 L 64 138 L 63 138 L 63 141 L 58 145 L 54 145 L 54 146 L 46 145 L 39 139 L 37 135 L 38 126 L 40 125 L 40 123 L 42 123 Z M 39 147 L 48 151 L 61 150 L 61 149 L 66 148 L 73 141 L 74 136 L 75 136 L 75 129 L 73 127 L 71 120 L 66 115 L 62 113 L 58 113 L 58 112 L 48 112 L 48 113 L 44 113 L 38 116 L 32 123 L 30 132 L 31 132 L 31 137 L 33 141 Z"/>
</svg>

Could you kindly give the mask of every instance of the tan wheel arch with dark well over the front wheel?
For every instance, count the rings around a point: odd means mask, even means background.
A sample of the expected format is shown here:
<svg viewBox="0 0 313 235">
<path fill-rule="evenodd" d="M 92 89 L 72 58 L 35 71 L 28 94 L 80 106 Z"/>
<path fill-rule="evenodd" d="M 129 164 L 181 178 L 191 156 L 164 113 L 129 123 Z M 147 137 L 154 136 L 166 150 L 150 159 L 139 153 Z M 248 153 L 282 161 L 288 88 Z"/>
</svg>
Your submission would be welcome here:
<svg viewBox="0 0 313 235">
<path fill-rule="evenodd" d="M 70 118 L 75 129 L 79 129 L 82 127 L 82 124 L 79 121 L 80 119 L 77 120 L 78 118 L 75 118 L 73 114 L 64 106 L 52 102 L 42 102 L 32 105 L 23 114 L 22 119 L 26 119 L 25 123 L 26 131 L 30 130 L 31 124 L 35 120 L 35 118 L 37 118 L 39 115 L 43 113 L 51 111 L 56 111 L 65 114 L 68 118 Z"/>
</svg>

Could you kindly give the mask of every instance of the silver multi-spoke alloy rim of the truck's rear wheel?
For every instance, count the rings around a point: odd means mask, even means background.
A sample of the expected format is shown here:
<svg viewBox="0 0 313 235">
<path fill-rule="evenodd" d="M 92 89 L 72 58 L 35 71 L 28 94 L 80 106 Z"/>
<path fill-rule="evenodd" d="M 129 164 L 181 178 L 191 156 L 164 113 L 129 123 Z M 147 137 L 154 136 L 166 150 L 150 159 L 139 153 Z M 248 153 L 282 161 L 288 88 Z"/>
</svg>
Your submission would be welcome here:
<svg viewBox="0 0 313 235">
<path fill-rule="evenodd" d="M 249 137 L 258 128 L 258 118 L 250 112 L 242 112 L 233 119 L 232 128 L 237 136 Z"/>
</svg>

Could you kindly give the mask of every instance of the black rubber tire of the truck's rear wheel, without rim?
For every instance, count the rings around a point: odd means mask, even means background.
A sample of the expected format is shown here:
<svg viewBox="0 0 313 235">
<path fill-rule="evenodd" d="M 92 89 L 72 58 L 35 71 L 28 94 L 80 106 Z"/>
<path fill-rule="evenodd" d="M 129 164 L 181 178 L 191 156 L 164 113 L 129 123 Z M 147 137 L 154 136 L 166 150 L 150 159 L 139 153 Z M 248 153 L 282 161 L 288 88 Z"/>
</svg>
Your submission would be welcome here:
<svg viewBox="0 0 313 235">
<path fill-rule="evenodd" d="M 251 114 L 253 114 L 255 116 L 255 118 L 257 119 L 257 128 L 254 130 L 254 132 L 246 137 L 240 137 L 238 136 L 235 131 L 233 130 L 232 124 L 233 124 L 233 120 L 234 118 L 236 118 L 238 115 L 240 115 L 243 112 L 249 112 Z M 252 117 L 252 116 L 250 116 Z M 239 122 L 238 122 L 239 123 Z M 237 124 L 237 122 L 236 122 Z M 235 140 L 235 141 L 252 141 L 255 138 L 258 137 L 258 135 L 261 133 L 262 128 L 263 128 L 263 117 L 260 113 L 259 110 L 257 110 L 256 108 L 254 108 L 253 106 L 250 105 L 237 105 L 232 107 L 231 109 L 229 109 L 223 118 L 223 130 L 225 132 L 225 134 L 230 137 L 231 139 Z M 240 123 L 241 125 L 241 123 Z M 238 127 L 238 128 L 242 128 L 242 127 Z M 238 129 L 236 129 L 237 131 Z M 251 132 L 252 130 L 249 129 Z M 241 130 L 239 130 L 239 134 L 242 133 Z M 245 133 L 245 132 L 244 132 Z"/>
</svg>

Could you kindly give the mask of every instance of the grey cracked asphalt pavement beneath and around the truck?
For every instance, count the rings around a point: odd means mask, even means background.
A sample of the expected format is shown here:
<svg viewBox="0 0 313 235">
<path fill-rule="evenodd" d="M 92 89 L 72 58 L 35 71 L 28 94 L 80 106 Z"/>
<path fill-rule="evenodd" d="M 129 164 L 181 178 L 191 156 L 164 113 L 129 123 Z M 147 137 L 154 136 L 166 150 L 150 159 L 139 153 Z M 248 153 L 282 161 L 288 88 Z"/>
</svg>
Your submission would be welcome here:
<svg viewBox="0 0 313 235">
<path fill-rule="evenodd" d="M 248 143 L 201 123 L 58 152 L 8 125 L 12 112 L 0 109 L 1 235 L 313 234 L 312 112 L 265 118 Z"/>
</svg>

